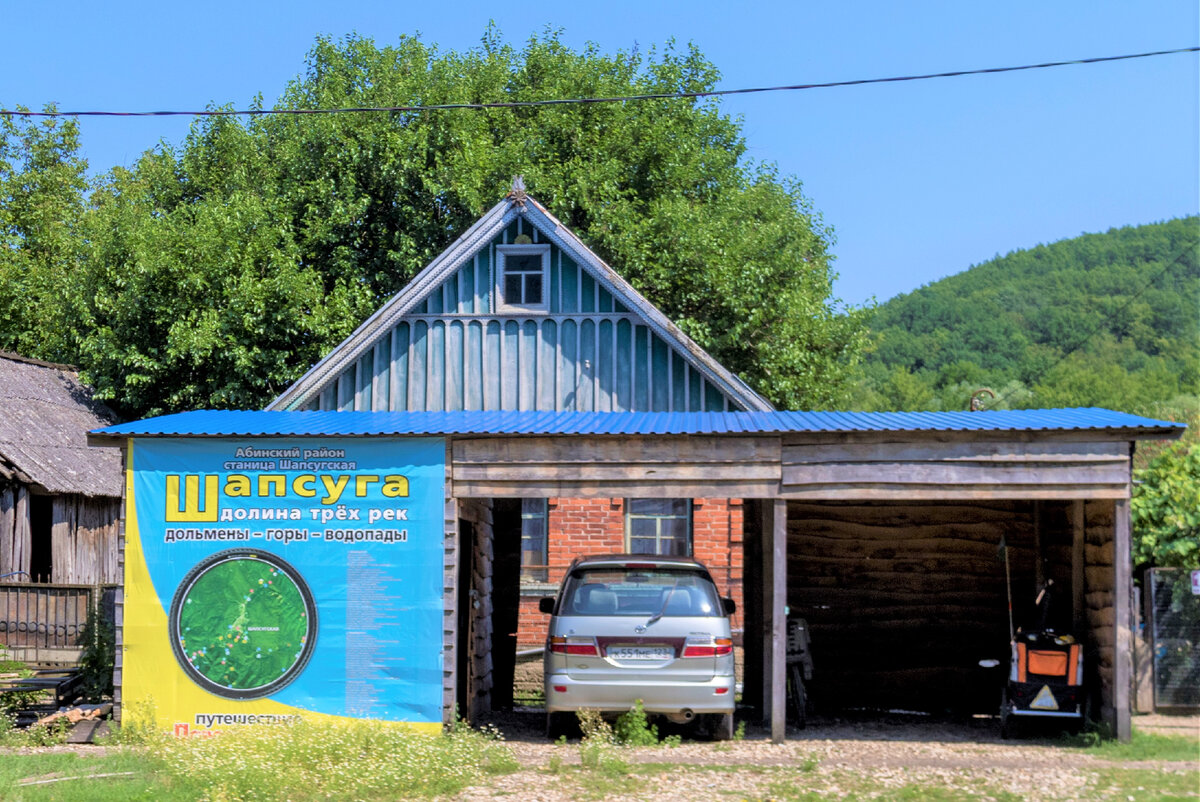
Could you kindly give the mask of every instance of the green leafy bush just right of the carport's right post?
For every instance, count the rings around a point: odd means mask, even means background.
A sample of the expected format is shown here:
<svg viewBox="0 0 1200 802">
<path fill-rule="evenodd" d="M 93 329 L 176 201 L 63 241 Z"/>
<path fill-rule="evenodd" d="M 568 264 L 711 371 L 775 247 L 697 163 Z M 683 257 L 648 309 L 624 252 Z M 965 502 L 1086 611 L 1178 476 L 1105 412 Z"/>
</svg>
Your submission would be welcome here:
<svg viewBox="0 0 1200 802">
<path fill-rule="evenodd" d="M 1134 559 L 1200 568 L 1200 445 L 1178 443 L 1134 472 Z"/>
</svg>

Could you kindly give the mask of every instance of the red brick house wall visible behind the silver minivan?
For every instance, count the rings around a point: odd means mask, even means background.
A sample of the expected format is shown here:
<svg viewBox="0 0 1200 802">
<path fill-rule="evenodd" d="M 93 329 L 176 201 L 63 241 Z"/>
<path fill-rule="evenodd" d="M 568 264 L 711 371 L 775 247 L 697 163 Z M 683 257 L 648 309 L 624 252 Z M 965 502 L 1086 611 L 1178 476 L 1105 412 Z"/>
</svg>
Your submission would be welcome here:
<svg viewBox="0 0 1200 802">
<path fill-rule="evenodd" d="M 695 498 L 691 507 L 692 557 L 704 563 L 721 595 L 737 602 L 731 621 L 742 627 L 743 505 L 740 498 Z M 550 582 L 562 581 L 576 557 L 625 550 L 624 498 L 551 498 L 548 502 Z M 541 646 L 550 616 L 538 611 L 539 588 L 522 589 L 517 648 Z M 548 592 L 552 594 L 552 592 Z"/>
</svg>

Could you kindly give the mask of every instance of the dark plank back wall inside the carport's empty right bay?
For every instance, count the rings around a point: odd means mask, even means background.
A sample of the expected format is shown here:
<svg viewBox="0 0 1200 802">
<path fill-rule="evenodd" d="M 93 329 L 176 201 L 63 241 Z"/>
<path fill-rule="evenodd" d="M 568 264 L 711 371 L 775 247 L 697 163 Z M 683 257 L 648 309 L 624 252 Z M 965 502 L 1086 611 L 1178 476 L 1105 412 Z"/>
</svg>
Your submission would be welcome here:
<svg viewBox="0 0 1200 802">
<path fill-rule="evenodd" d="M 1032 502 L 788 502 L 788 605 L 809 621 L 814 694 L 833 707 L 979 710 L 1008 656 L 1004 563 L 1018 620 L 1034 598 Z"/>
</svg>

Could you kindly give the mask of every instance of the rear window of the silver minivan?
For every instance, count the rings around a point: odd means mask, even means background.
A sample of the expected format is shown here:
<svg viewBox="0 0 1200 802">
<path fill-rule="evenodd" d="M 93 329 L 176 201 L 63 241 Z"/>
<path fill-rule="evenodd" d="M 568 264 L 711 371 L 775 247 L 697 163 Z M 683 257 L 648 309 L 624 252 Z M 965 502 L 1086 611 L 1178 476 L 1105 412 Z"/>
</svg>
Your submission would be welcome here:
<svg viewBox="0 0 1200 802">
<path fill-rule="evenodd" d="M 560 616 L 722 616 L 713 581 L 695 570 L 589 568 L 572 571 Z"/>
</svg>

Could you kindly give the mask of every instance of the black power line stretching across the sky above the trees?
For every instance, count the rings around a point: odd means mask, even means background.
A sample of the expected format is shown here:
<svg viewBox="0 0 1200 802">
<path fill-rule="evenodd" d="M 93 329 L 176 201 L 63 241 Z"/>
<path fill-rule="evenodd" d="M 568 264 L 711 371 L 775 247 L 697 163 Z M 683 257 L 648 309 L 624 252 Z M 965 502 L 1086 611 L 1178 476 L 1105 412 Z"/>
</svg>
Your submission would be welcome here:
<svg viewBox="0 0 1200 802">
<path fill-rule="evenodd" d="M 961 76 L 986 76 L 1002 72 L 1021 72 L 1026 70 L 1046 70 L 1081 64 L 1103 64 L 1105 61 L 1127 61 L 1129 59 L 1148 59 L 1158 55 L 1178 53 L 1196 53 L 1200 47 L 1181 47 L 1174 50 L 1153 50 L 1150 53 L 1129 53 L 1126 55 L 1104 55 L 1093 59 L 1072 59 L 1069 61 L 1044 61 L 1042 64 L 1024 64 L 1015 67 L 985 67 L 982 70 L 955 70 L 952 72 L 931 72 L 916 76 L 893 76 L 890 78 L 858 78 L 854 80 L 830 80 L 816 84 L 792 84 L 787 86 L 752 86 L 749 89 L 713 89 L 702 92 L 659 92 L 649 95 L 618 95 L 612 97 L 564 97 L 558 100 L 536 101 L 498 101 L 492 103 L 433 103 L 430 106 L 355 106 L 346 108 L 251 108 L 251 109 L 208 109 L 204 112 L 26 112 L 19 109 L 0 109 L 0 116 L 264 116 L 270 114 L 361 114 L 368 112 L 443 112 L 454 109 L 491 109 L 491 108 L 529 108 L 538 106 L 577 106 L 584 103 L 624 103 L 626 101 L 679 100 L 701 97 L 722 97 L 726 95 L 754 95 L 761 92 L 804 91 L 808 89 L 835 89 L 839 86 L 865 86 L 868 84 L 895 84 L 908 80 L 930 80 L 932 78 L 958 78 Z"/>
</svg>

